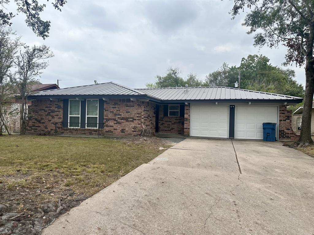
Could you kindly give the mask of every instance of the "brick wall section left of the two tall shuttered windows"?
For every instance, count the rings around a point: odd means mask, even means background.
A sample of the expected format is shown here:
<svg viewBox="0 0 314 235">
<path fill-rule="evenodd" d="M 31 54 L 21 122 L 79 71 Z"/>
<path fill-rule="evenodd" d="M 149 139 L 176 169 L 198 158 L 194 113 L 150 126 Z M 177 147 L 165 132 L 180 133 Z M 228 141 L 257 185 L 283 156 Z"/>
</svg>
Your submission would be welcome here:
<svg viewBox="0 0 314 235">
<path fill-rule="evenodd" d="M 53 134 L 55 133 L 55 123 L 63 121 L 63 102 L 35 100 L 28 107 L 28 113 L 27 133 Z"/>
</svg>

